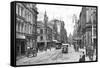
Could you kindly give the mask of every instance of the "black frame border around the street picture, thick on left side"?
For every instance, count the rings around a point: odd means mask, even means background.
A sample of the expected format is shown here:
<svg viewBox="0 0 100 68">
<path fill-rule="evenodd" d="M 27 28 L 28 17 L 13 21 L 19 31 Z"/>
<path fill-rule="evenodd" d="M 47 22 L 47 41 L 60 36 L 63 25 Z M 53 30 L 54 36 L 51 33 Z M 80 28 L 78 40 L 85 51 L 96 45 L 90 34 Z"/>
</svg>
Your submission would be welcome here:
<svg viewBox="0 0 100 68">
<path fill-rule="evenodd" d="M 81 6 L 81 7 L 95 7 L 96 8 L 96 37 L 97 37 L 97 47 L 96 47 L 96 61 L 85 61 L 85 62 L 59 62 L 59 63 L 46 63 L 46 64 L 31 64 L 31 65 L 16 65 L 16 3 L 32 3 L 32 4 L 45 4 L 45 5 L 60 5 L 60 6 Z M 29 1 L 12 1 L 10 3 L 11 6 L 11 31 L 10 31 L 10 65 L 13 67 L 22 67 L 22 66 L 41 66 L 41 65 L 57 65 L 57 64 L 73 64 L 73 63 L 90 63 L 90 62 L 98 62 L 98 6 L 93 5 L 76 5 L 76 4 L 60 4 L 60 3 L 46 3 L 46 2 L 29 2 Z"/>
</svg>

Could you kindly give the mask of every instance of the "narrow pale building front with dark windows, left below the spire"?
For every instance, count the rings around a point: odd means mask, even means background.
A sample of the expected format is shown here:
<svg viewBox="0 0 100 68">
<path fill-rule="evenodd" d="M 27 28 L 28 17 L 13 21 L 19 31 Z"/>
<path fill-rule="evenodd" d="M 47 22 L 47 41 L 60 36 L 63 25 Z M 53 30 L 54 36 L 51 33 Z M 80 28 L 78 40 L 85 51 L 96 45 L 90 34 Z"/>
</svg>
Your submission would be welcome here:
<svg viewBox="0 0 100 68">
<path fill-rule="evenodd" d="M 44 42 L 45 42 L 45 29 L 44 29 L 44 23 L 42 21 L 37 22 L 37 46 L 39 50 L 44 49 Z"/>
</svg>

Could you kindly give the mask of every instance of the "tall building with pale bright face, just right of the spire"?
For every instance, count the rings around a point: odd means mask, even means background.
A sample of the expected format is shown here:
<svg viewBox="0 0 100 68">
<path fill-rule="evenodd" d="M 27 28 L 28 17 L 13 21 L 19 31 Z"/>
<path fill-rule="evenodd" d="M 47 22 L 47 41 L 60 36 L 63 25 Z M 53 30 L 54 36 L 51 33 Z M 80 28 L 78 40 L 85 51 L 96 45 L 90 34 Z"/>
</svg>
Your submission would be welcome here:
<svg viewBox="0 0 100 68">
<path fill-rule="evenodd" d="M 52 39 L 62 43 L 68 42 L 64 21 L 53 19 L 50 23 L 53 24 Z"/>
</svg>

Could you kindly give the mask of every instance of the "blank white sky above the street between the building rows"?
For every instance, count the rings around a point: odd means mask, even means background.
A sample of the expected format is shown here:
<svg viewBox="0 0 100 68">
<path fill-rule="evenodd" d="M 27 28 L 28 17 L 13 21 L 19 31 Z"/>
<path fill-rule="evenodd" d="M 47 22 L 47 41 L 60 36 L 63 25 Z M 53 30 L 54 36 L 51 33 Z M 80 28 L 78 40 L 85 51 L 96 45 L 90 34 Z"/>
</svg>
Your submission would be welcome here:
<svg viewBox="0 0 100 68">
<path fill-rule="evenodd" d="M 38 20 L 43 21 L 43 16 L 46 11 L 49 21 L 54 18 L 64 21 L 67 36 L 69 36 L 69 34 L 73 34 L 74 31 L 75 23 L 73 23 L 73 15 L 75 14 L 77 19 L 79 19 L 82 7 L 37 4 L 37 9 L 39 12 Z"/>
</svg>

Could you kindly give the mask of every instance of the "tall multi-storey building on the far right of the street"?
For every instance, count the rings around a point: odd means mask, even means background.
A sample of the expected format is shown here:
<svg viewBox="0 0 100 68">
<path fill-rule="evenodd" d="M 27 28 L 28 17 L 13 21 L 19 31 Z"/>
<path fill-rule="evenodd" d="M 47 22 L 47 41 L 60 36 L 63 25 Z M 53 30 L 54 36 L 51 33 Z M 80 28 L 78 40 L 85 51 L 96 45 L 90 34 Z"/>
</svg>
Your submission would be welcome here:
<svg viewBox="0 0 100 68">
<path fill-rule="evenodd" d="M 82 7 L 80 13 L 78 34 L 81 37 L 81 48 L 94 50 L 97 46 L 97 18 L 95 7 Z"/>
</svg>

